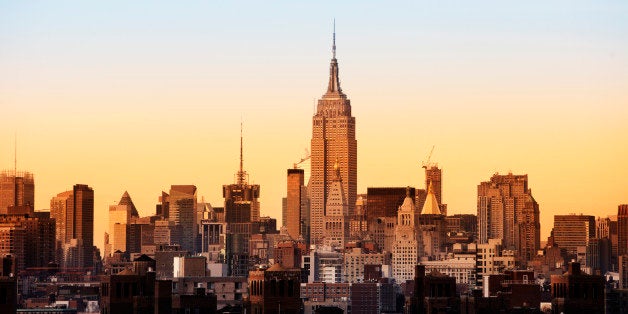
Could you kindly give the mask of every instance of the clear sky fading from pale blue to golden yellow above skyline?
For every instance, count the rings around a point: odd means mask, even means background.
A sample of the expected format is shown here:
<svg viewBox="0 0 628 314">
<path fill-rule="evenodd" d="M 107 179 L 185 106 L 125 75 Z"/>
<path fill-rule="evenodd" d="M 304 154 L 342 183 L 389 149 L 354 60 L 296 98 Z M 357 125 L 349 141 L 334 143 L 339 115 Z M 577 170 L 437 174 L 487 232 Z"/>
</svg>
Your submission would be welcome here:
<svg viewBox="0 0 628 314">
<path fill-rule="evenodd" d="M 239 165 L 281 219 L 309 148 L 336 19 L 358 192 L 422 187 L 449 213 L 493 173 L 529 175 L 553 215 L 628 203 L 626 1 L 0 1 L 0 168 L 35 174 L 36 208 L 89 184 L 95 241 L 128 190 L 141 215 L 171 184 L 222 206 Z M 305 165 L 307 168 L 307 164 Z"/>
</svg>

